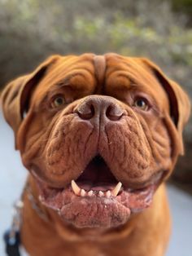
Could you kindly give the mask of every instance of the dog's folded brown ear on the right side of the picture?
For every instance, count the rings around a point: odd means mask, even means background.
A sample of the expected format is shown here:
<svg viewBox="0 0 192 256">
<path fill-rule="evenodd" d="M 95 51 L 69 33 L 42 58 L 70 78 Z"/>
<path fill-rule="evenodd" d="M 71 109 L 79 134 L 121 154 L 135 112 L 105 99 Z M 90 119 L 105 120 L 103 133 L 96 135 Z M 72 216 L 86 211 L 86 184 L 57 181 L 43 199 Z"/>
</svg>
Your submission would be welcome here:
<svg viewBox="0 0 192 256">
<path fill-rule="evenodd" d="M 142 59 L 142 62 L 151 68 L 152 73 L 158 79 L 159 83 L 164 87 L 168 94 L 170 104 L 170 115 L 172 121 L 177 128 L 179 135 L 180 154 L 184 154 L 182 131 L 185 123 L 190 117 L 190 99 L 176 82 L 173 82 L 164 75 L 162 70 L 152 63 L 150 60 Z"/>
</svg>

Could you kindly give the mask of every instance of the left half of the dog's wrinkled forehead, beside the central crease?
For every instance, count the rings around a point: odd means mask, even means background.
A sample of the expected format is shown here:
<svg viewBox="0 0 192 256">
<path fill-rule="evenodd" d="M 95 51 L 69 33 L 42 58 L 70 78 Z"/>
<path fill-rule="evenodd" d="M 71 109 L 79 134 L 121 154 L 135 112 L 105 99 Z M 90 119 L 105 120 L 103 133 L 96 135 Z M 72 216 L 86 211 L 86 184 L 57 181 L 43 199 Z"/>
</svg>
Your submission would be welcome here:
<svg viewBox="0 0 192 256">
<path fill-rule="evenodd" d="M 93 93 L 96 86 L 93 55 L 60 57 L 46 71 L 33 93 L 33 98 L 41 99 L 48 91 L 61 86 Z"/>
</svg>

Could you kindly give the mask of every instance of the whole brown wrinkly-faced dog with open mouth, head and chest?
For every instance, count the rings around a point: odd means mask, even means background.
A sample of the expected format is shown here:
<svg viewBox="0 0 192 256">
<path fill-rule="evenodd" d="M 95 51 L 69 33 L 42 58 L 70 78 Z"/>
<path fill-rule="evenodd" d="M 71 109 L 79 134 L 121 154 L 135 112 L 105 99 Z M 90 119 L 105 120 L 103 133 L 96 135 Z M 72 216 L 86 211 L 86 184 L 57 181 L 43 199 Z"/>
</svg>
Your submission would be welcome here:
<svg viewBox="0 0 192 256">
<path fill-rule="evenodd" d="M 11 82 L 2 108 L 30 172 L 31 256 L 164 255 L 163 181 L 190 114 L 180 86 L 146 59 L 55 55 Z"/>
</svg>

